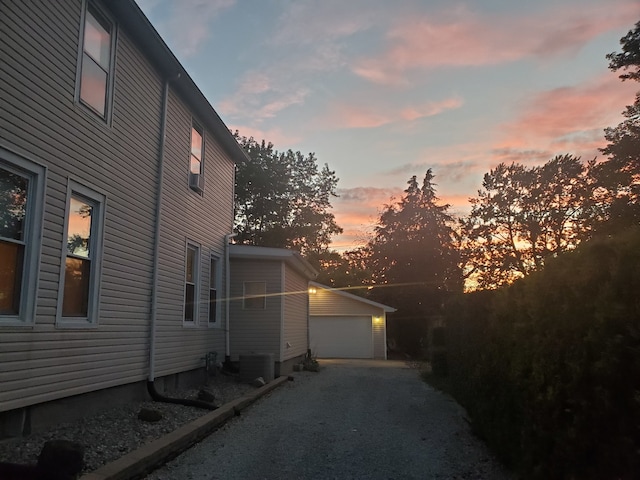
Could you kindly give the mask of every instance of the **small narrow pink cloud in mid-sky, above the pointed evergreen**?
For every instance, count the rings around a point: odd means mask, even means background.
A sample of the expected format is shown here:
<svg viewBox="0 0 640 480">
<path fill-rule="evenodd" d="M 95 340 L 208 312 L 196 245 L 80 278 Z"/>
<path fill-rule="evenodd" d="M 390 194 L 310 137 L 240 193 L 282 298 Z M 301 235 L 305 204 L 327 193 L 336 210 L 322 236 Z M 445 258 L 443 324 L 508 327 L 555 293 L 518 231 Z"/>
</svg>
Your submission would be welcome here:
<svg viewBox="0 0 640 480">
<path fill-rule="evenodd" d="M 459 97 L 451 97 L 439 102 L 427 102 L 421 105 L 410 105 L 397 108 L 367 104 L 354 105 L 347 103 L 335 104 L 329 107 L 329 113 L 324 120 L 331 128 L 375 128 L 401 121 L 414 121 L 420 118 L 439 115 L 447 110 L 460 108 L 463 101 Z"/>
</svg>

